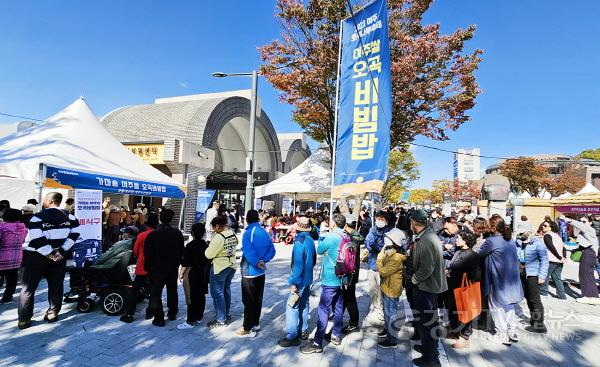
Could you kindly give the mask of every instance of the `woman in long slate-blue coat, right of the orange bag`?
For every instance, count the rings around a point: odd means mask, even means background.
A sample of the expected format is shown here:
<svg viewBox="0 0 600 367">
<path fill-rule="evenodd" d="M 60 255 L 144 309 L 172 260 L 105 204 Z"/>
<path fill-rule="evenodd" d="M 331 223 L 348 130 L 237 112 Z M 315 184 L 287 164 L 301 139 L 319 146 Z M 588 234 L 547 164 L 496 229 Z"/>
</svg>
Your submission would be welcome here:
<svg viewBox="0 0 600 367">
<path fill-rule="evenodd" d="M 477 254 L 485 259 L 484 292 L 488 296 L 490 313 L 499 341 L 511 345 L 519 341 L 515 306 L 523 300 L 517 245 L 512 231 L 501 216 L 490 218 L 492 235 Z"/>
</svg>

